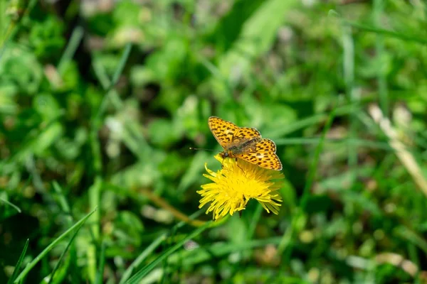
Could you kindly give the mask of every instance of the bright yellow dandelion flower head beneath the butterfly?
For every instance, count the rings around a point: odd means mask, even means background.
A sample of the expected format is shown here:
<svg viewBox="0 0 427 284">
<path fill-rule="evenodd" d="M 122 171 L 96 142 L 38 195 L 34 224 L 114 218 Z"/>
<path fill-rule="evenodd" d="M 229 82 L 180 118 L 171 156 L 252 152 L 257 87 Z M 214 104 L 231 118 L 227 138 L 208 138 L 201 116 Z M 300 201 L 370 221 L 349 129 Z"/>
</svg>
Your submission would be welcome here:
<svg viewBox="0 0 427 284">
<path fill-rule="evenodd" d="M 244 160 L 234 158 L 223 159 L 220 154 L 215 156 L 223 167 L 218 172 L 207 168 L 208 174 L 204 177 L 213 182 L 202 185 L 203 190 L 197 193 L 201 195 L 200 206 L 211 202 L 206 214 L 213 212 L 214 219 L 221 219 L 230 213 L 245 209 L 246 204 L 252 198 L 258 200 L 264 209 L 270 213 L 278 214 L 282 197 L 278 190 L 282 187 L 283 173 L 276 170 L 260 168 Z"/>
</svg>

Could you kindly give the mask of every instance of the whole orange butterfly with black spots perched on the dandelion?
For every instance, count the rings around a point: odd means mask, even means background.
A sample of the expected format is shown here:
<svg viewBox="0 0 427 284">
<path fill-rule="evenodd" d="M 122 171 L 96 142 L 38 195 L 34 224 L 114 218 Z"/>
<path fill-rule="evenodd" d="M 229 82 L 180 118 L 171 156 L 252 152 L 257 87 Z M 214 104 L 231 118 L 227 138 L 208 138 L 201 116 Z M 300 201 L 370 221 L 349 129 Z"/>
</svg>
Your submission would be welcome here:
<svg viewBox="0 0 427 284">
<path fill-rule="evenodd" d="M 275 143 L 262 138 L 260 131 L 238 127 L 216 116 L 209 117 L 208 124 L 216 141 L 224 148 L 223 158 L 240 158 L 262 168 L 282 170 Z"/>
</svg>

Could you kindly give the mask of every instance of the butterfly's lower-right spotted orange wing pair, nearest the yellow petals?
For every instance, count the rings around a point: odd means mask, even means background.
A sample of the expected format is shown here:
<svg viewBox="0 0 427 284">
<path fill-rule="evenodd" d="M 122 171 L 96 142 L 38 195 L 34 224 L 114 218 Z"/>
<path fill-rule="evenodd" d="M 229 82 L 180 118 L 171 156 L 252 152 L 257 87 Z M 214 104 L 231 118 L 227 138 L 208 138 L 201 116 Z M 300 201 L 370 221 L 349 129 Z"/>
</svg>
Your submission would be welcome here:
<svg viewBox="0 0 427 284">
<path fill-rule="evenodd" d="M 237 153 L 236 158 L 241 158 L 249 163 L 259 165 L 262 168 L 282 170 L 282 163 L 275 151 L 275 143 L 270 139 L 263 139 L 256 143 L 253 151 Z"/>
</svg>

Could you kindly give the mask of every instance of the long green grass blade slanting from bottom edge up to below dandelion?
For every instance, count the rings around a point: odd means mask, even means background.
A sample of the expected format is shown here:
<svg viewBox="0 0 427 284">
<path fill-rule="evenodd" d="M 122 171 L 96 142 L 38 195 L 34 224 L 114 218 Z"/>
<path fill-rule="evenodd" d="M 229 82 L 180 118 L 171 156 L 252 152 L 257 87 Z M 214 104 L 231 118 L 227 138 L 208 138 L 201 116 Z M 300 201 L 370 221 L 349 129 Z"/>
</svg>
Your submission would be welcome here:
<svg viewBox="0 0 427 284">
<path fill-rule="evenodd" d="M 156 267 L 159 263 L 164 261 L 164 259 L 170 256 L 174 251 L 176 251 L 181 246 L 183 246 L 186 241 L 188 241 L 189 239 L 193 239 L 195 236 L 198 236 L 199 234 L 201 234 L 201 232 L 208 229 L 209 226 L 211 226 L 211 223 L 212 222 L 206 222 L 206 224 L 204 224 L 203 226 L 200 226 L 199 228 L 195 229 L 193 232 L 191 232 L 191 234 L 188 234 L 185 238 L 181 239 L 181 241 L 176 243 L 170 249 L 168 249 L 167 251 L 164 251 L 164 253 L 162 253 L 158 258 L 152 261 L 152 263 L 149 263 L 149 265 L 145 266 L 144 268 L 139 270 L 137 273 L 135 273 L 135 275 L 133 275 L 132 278 L 127 280 L 125 283 L 129 283 L 129 284 L 139 283 L 139 281 L 142 280 L 142 278 L 144 278 L 144 276 L 147 275 L 147 273 L 152 271 L 154 267 Z"/>
</svg>

